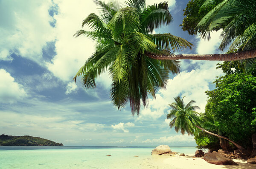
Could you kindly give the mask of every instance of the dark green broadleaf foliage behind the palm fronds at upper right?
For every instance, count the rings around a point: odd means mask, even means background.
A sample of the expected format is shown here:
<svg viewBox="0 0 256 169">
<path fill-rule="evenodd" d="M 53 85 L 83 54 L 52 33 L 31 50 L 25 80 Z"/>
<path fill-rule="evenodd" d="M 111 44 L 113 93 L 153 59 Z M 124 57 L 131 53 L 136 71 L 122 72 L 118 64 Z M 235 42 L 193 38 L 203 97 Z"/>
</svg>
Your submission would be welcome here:
<svg viewBox="0 0 256 169">
<path fill-rule="evenodd" d="M 186 9 L 183 9 L 183 16 L 185 17 L 180 26 L 182 26 L 183 31 L 188 31 L 190 35 L 196 34 L 196 25 L 212 8 L 215 7 L 215 5 L 221 2 L 221 0 L 217 0 L 212 4 L 209 4 L 209 6 L 199 12 L 204 2 L 205 0 L 190 0 L 189 3 L 186 5 Z M 218 28 L 214 28 L 213 30 L 218 31 L 220 28 L 224 28 L 224 26 L 220 25 Z M 198 32 L 201 32 L 201 29 L 198 30 Z"/>
</svg>

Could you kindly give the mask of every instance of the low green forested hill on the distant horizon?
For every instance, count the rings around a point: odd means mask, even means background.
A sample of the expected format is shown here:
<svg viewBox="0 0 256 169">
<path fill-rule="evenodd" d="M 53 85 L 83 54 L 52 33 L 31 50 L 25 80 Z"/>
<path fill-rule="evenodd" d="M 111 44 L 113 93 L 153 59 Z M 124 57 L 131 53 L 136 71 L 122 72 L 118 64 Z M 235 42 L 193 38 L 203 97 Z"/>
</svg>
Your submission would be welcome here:
<svg viewBox="0 0 256 169">
<path fill-rule="evenodd" d="M 0 135 L 1 146 L 63 146 L 62 143 L 56 143 L 40 137 L 32 137 L 30 135 L 13 136 Z"/>
</svg>

